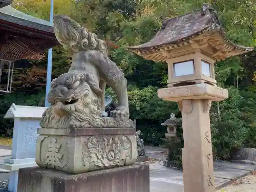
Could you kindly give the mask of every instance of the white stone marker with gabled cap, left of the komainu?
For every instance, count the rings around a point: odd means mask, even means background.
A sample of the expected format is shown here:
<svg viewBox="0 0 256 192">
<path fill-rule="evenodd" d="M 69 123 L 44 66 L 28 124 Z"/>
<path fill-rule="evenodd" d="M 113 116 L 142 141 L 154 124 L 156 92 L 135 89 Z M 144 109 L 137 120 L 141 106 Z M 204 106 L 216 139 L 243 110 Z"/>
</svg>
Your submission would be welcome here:
<svg viewBox="0 0 256 192">
<path fill-rule="evenodd" d="M 17 191 L 18 169 L 37 166 L 35 163 L 35 144 L 37 129 L 42 113 L 47 108 L 39 106 L 11 105 L 4 118 L 14 119 L 11 159 L 4 165 L 10 170 L 9 191 Z"/>
</svg>

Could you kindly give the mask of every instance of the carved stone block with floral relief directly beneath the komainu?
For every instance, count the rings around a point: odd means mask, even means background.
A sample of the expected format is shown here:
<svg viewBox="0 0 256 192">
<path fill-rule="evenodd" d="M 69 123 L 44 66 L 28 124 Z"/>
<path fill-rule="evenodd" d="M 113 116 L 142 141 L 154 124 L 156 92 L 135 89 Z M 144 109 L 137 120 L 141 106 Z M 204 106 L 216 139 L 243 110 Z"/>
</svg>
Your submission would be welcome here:
<svg viewBox="0 0 256 192">
<path fill-rule="evenodd" d="M 80 174 L 132 165 L 137 148 L 134 128 L 38 129 L 36 163 Z"/>
</svg>

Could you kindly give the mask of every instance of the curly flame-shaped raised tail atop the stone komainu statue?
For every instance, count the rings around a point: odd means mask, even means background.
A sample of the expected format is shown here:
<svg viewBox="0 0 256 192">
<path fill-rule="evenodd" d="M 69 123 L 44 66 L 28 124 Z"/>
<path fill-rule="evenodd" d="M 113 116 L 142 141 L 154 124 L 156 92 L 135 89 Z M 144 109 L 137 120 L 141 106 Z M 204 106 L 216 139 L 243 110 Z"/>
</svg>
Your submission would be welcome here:
<svg viewBox="0 0 256 192">
<path fill-rule="evenodd" d="M 53 29 L 57 40 L 70 53 L 98 50 L 108 54 L 105 42 L 66 15 L 54 15 Z"/>
</svg>

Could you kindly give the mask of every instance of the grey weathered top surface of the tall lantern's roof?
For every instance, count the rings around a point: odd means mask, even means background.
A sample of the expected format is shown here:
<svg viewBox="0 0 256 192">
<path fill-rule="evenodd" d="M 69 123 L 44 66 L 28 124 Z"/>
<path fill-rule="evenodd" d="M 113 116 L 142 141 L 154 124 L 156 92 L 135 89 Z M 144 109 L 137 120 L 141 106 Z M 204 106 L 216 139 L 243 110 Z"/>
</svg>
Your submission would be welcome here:
<svg viewBox="0 0 256 192">
<path fill-rule="evenodd" d="M 177 44 L 202 34 L 204 31 L 216 30 L 226 40 L 226 43 L 241 51 L 252 51 L 251 47 L 233 44 L 225 37 L 224 30 L 218 19 L 217 13 L 208 4 L 203 4 L 201 9 L 174 18 L 163 20 L 157 34 L 142 45 L 128 47 L 129 50 L 151 50 L 166 45 Z"/>
</svg>

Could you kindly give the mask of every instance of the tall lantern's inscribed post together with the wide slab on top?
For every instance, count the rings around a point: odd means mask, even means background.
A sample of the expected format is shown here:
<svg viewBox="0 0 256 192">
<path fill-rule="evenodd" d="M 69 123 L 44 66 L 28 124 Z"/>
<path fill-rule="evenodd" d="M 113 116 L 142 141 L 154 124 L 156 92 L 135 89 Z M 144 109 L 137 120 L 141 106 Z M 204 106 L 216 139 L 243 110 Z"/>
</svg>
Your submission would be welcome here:
<svg viewBox="0 0 256 192">
<path fill-rule="evenodd" d="M 177 101 L 182 112 L 184 191 L 214 192 L 209 109 L 212 100 L 228 98 L 227 90 L 204 83 L 160 89 L 158 96 Z"/>
</svg>

